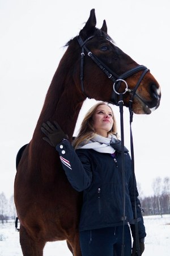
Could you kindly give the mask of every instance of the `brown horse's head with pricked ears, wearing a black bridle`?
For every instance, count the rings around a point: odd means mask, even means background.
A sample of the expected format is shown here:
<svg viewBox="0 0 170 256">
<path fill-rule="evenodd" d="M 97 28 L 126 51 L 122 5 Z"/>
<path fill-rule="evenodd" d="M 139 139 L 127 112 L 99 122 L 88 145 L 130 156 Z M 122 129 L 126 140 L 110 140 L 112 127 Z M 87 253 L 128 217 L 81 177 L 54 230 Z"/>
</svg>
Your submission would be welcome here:
<svg viewBox="0 0 170 256">
<path fill-rule="evenodd" d="M 107 34 L 105 20 L 101 29 L 96 28 L 94 9 L 74 40 L 82 51 L 78 69 L 82 91 L 87 97 L 117 105 L 119 93 L 124 93 L 124 105 L 133 101 L 132 110 L 136 114 L 150 114 L 158 108 L 161 96 L 158 82 L 145 66 L 138 65 L 115 46 Z M 80 81 L 79 77 L 77 79 Z"/>
</svg>

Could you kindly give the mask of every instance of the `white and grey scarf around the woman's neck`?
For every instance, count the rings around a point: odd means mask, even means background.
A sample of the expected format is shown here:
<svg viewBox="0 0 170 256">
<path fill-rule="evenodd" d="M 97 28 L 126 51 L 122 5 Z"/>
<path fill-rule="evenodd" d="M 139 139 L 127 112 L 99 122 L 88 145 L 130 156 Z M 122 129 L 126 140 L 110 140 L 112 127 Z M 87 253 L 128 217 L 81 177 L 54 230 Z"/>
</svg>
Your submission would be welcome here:
<svg viewBox="0 0 170 256">
<path fill-rule="evenodd" d="M 107 138 L 96 134 L 94 138 L 90 139 L 84 146 L 84 142 L 80 143 L 78 148 L 92 148 L 93 150 L 100 152 L 100 153 L 109 153 L 113 154 L 115 149 L 110 146 L 111 143 L 116 143 L 118 140 L 115 135 L 109 134 Z"/>
</svg>

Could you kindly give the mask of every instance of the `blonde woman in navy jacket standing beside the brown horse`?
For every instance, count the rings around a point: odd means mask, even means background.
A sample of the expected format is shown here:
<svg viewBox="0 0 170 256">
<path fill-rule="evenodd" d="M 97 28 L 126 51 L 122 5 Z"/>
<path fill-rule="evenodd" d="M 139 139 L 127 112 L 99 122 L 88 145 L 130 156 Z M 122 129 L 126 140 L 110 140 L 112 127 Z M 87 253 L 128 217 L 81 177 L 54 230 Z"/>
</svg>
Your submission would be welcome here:
<svg viewBox="0 0 170 256">
<path fill-rule="evenodd" d="M 83 191 L 83 205 L 79 222 L 80 247 L 83 256 L 121 255 L 123 221 L 123 189 L 121 170 L 121 142 L 117 139 L 116 120 L 112 108 L 100 102 L 83 119 L 73 146 L 56 122 L 42 124 L 45 141 L 56 147 L 67 179 L 76 191 Z M 125 216 L 124 255 L 137 255 L 135 243 L 131 254 L 131 234 L 134 231 L 134 185 L 131 159 L 125 152 Z M 145 226 L 136 189 L 139 217 L 139 245 L 145 248 Z M 130 228 L 129 228 L 130 226 Z M 114 252 L 113 252 L 114 250 Z"/>
</svg>

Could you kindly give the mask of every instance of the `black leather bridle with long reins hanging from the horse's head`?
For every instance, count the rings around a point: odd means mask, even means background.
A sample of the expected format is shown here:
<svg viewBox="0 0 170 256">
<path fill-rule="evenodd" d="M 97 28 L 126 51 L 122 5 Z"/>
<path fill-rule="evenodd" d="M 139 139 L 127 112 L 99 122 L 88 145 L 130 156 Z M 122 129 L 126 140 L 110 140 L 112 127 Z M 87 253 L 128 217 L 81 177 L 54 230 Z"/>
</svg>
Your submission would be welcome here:
<svg viewBox="0 0 170 256">
<path fill-rule="evenodd" d="M 126 221 L 126 216 L 125 216 L 125 152 L 124 152 L 124 101 L 123 97 L 126 92 L 131 93 L 131 97 L 129 100 L 129 113 L 130 113 L 130 150 L 131 150 L 131 169 L 132 169 L 132 175 L 133 175 L 133 185 L 134 185 L 134 205 L 135 205 L 135 212 L 134 212 L 134 220 L 133 224 L 135 224 L 135 242 L 136 242 L 136 248 L 137 248 L 137 256 L 140 256 L 140 248 L 139 248 L 139 233 L 138 233 L 138 222 L 140 221 L 140 218 L 137 217 L 137 205 L 136 205 L 136 199 L 135 199 L 135 171 L 134 171 L 134 147 L 133 147 L 133 135 L 132 135 L 132 130 L 131 130 L 131 123 L 133 122 L 133 110 L 132 110 L 132 103 L 133 103 L 133 98 L 134 96 L 138 96 L 136 94 L 136 91 L 138 89 L 138 86 L 141 84 L 141 81 L 143 77 L 146 75 L 146 73 L 149 71 L 144 65 L 138 65 L 135 68 L 129 69 L 129 71 L 126 71 L 122 75 L 118 76 L 116 73 L 114 73 L 110 68 L 107 67 L 103 63 L 103 61 L 99 60 L 99 58 L 94 55 L 91 51 L 88 50 L 86 47 L 86 43 L 88 40 L 91 40 L 95 38 L 95 36 L 90 36 L 90 38 L 87 38 L 84 42 L 80 36 L 77 37 L 78 43 L 80 47 L 82 48 L 81 52 L 81 62 L 80 62 L 80 81 L 81 81 L 81 86 L 82 86 L 82 92 L 86 97 L 86 93 L 84 92 L 84 84 L 83 84 L 83 66 L 84 66 L 84 50 L 87 52 L 87 55 L 91 57 L 91 59 L 97 64 L 97 66 L 107 75 L 109 79 L 111 79 L 114 84 L 113 84 L 113 91 L 112 91 L 112 96 L 111 96 L 111 103 L 114 105 L 117 105 L 120 107 L 120 123 L 121 123 L 121 163 L 122 163 L 122 189 L 123 189 L 123 216 L 121 217 L 121 220 L 123 221 L 123 232 L 122 232 L 122 249 L 121 249 L 121 256 L 124 256 L 124 247 L 125 247 L 125 240 L 124 240 L 124 228 L 125 228 L 125 222 Z M 108 38 L 106 38 L 109 40 Z M 128 84 L 125 81 L 125 79 L 134 73 L 137 73 L 139 71 L 143 71 L 141 77 L 139 78 L 137 84 L 135 85 L 134 89 L 129 89 Z M 125 91 L 119 93 L 118 90 L 120 89 L 120 84 L 121 82 L 124 82 L 126 85 Z M 117 95 L 119 95 L 119 101 L 117 100 Z M 138 96 L 139 97 L 139 96 Z M 140 97 L 139 97 L 140 98 Z M 140 98 L 142 101 L 142 99 Z M 129 224 L 129 222 L 128 222 Z"/>
</svg>

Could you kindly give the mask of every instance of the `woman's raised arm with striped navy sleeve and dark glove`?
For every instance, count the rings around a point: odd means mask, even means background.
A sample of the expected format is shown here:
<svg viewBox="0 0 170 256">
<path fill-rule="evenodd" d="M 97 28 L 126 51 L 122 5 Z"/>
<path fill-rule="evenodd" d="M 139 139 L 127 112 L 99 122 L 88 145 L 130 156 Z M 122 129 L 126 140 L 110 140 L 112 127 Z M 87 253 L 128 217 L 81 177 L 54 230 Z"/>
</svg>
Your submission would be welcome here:
<svg viewBox="0 0 170 256">
<path fill-rule="evenodd" d="M 80 158 L 67 140 L 67 135 L 54 121 L 42 123 L 41 131 L 46 135 L 43 139 L 58 151 L 63 170 L 70 184 L 76 191 L 88 188 L 92 180 L 90 159 L 86 155 Z"/>
</svg>

